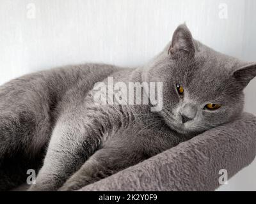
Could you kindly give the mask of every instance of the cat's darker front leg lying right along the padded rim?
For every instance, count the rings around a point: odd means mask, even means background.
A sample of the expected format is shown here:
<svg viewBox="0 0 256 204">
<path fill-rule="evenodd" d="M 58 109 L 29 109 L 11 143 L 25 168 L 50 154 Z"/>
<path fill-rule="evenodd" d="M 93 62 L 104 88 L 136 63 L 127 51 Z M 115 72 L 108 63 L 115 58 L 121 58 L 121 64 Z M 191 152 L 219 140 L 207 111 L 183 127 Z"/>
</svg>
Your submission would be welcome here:
<svg viewBox="0 0 256 204">
<path fill-rule="evenodd" d="M 116 147 L 104 147 L 95 152 L 58 191 L 79 190 L 147 158 L 142 151 L 120 148 L 120 145 L 116 143 Z"/>
</svg>

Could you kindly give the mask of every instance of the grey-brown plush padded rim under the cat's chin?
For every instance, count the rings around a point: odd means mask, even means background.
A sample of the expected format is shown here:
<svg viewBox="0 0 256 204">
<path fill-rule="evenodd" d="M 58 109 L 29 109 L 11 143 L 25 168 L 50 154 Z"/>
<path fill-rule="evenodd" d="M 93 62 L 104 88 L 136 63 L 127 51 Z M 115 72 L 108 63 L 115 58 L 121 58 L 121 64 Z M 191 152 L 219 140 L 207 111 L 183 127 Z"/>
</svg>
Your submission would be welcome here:
<svg viewBox="0 0 256 204">
<path fill-rule="evenodd" d="M 255 158 L 256 118 L 243 115 L 80 191 L 214 191 Z"/>
</svg>

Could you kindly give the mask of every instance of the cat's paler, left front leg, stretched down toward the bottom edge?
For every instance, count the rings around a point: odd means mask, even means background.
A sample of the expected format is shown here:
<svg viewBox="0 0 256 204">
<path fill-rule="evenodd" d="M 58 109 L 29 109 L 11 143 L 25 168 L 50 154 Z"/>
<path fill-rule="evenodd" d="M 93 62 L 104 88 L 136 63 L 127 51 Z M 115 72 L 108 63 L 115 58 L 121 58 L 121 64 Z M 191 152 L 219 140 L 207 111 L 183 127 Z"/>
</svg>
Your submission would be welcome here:
<svg viewBox="0 0 256 204">
<path fill-rule="evenodd" d="M 66 121 L 65 121 L 66 120 Z M 100 144 L 100 135 L 76 117 L 60 120 L 52 133 L 44 165 L 29 191 L 54 191 Z"/>
</svg>

